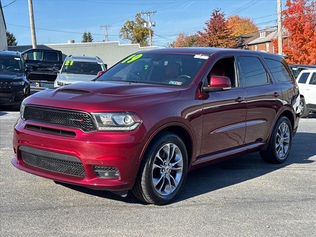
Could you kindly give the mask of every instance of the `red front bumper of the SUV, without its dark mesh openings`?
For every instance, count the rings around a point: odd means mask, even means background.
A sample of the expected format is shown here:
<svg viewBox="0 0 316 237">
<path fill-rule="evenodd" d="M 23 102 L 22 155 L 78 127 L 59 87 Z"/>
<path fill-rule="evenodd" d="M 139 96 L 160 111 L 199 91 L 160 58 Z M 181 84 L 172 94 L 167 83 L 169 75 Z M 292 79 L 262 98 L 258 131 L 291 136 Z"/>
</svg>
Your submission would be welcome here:
<svg viewBox="0 0 316 237">
<path fill-rule="evenodd" d="M 67 137 L 41 133 L 26 129 L 26 125 L 63 129 L 76 133 Z M 48 179 L 84 186 L 96 190 L 130 190 L 138 171 L 138 162 L 147 141 L 141 129 L 130 132 L 82 132 L 76 128 L 47 125 L 38 122 L 18 120 L 13 132 L 14 158 L 12 164 L 20 170 Z M 38 151 L 75 157 L 83 165 L 85 176 L 78 177 L 49 171 L 26 163 L 21 156 L 21 147 Z M 104 179 L 95 175 L 92 166 L 113 166 L 120 173 L 118 179 Z"/>
</svg>

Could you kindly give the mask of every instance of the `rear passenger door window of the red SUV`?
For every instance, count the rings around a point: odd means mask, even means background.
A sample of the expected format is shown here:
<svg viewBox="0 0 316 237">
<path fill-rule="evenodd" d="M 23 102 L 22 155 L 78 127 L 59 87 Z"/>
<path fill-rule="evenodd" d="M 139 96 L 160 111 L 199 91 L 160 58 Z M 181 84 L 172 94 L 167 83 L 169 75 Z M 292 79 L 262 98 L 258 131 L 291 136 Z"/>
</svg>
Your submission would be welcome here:
<svg viewBox="0 0 316 237">
<path fill-rule="evenodd" d="M 239 59 L 245 86 L 262 85 L 269 82 L 267 72 L 259 58 L 241 56 Z"/>
</svg>

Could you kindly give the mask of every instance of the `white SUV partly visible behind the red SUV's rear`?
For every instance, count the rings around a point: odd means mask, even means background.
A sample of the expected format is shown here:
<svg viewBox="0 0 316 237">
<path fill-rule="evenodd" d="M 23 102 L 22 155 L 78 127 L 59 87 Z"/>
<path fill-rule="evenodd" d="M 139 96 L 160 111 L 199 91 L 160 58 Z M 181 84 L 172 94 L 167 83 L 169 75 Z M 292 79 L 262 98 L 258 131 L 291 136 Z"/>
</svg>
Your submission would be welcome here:
<svg viewBox="0 0 316 237">
<path fill-rule="evenodd" d="M 316 112 L 316 69 L 301 71 L 296 79 L 300 88 L 301 118 L 305 118 L 311 112 Z"/>
</svg>

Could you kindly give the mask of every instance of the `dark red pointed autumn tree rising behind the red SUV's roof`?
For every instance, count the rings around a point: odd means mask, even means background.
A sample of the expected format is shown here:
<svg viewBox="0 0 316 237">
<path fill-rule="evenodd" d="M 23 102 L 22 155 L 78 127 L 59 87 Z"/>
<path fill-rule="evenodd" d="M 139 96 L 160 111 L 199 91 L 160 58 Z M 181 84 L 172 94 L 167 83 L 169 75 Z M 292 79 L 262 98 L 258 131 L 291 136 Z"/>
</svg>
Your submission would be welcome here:
<svg viewBox="0 0 316 237">
<path fill-rule="evenodd" d="M 236 45 L 237 39 L 232 37 L 232 30 L 220 8 L 212 12 L 205 25 L 203 31 L 197 32 L 197 46 L 232 48 Z"/>
</svg>

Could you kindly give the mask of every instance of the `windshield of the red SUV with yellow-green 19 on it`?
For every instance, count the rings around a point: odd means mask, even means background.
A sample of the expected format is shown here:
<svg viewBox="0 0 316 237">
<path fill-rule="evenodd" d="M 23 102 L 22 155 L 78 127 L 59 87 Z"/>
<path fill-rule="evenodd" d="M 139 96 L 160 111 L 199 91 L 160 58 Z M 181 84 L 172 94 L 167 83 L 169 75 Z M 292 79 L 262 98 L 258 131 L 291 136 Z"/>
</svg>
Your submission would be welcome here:
<svg viewBox="0 0 316 237">
<path fill-rule="evenodd" d="M 192 83 L 208 56 L 194 54 L 133 54 L 109 69 L 97 81 L 129 81 L 170 86 Z"/>
</svg>

